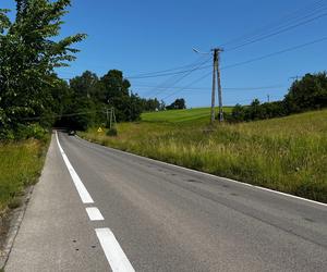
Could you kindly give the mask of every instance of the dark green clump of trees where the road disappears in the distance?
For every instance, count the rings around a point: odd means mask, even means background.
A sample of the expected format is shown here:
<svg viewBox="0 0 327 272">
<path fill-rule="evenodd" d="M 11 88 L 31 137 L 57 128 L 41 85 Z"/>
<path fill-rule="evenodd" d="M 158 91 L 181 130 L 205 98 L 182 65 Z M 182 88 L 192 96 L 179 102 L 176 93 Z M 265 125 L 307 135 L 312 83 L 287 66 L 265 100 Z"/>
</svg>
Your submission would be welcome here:
<svg viewBox="0 0 327 272">
<path fill-rule="evenodd" d="M 165 108 L 162 101 L 141 98 L 130 87 L 130 82 L 119 70 L 110 70 L 101 77 L 90 71 L 84 72 L 58 90 L 63 94 L 59 98 L 63 107 L 56 125 L 87 129 L 94 125 L 108 125 L 108 109 L 114 109 L 118 122 L 132 122 L 140 120 L 144 111 Z"/>
</svg>

